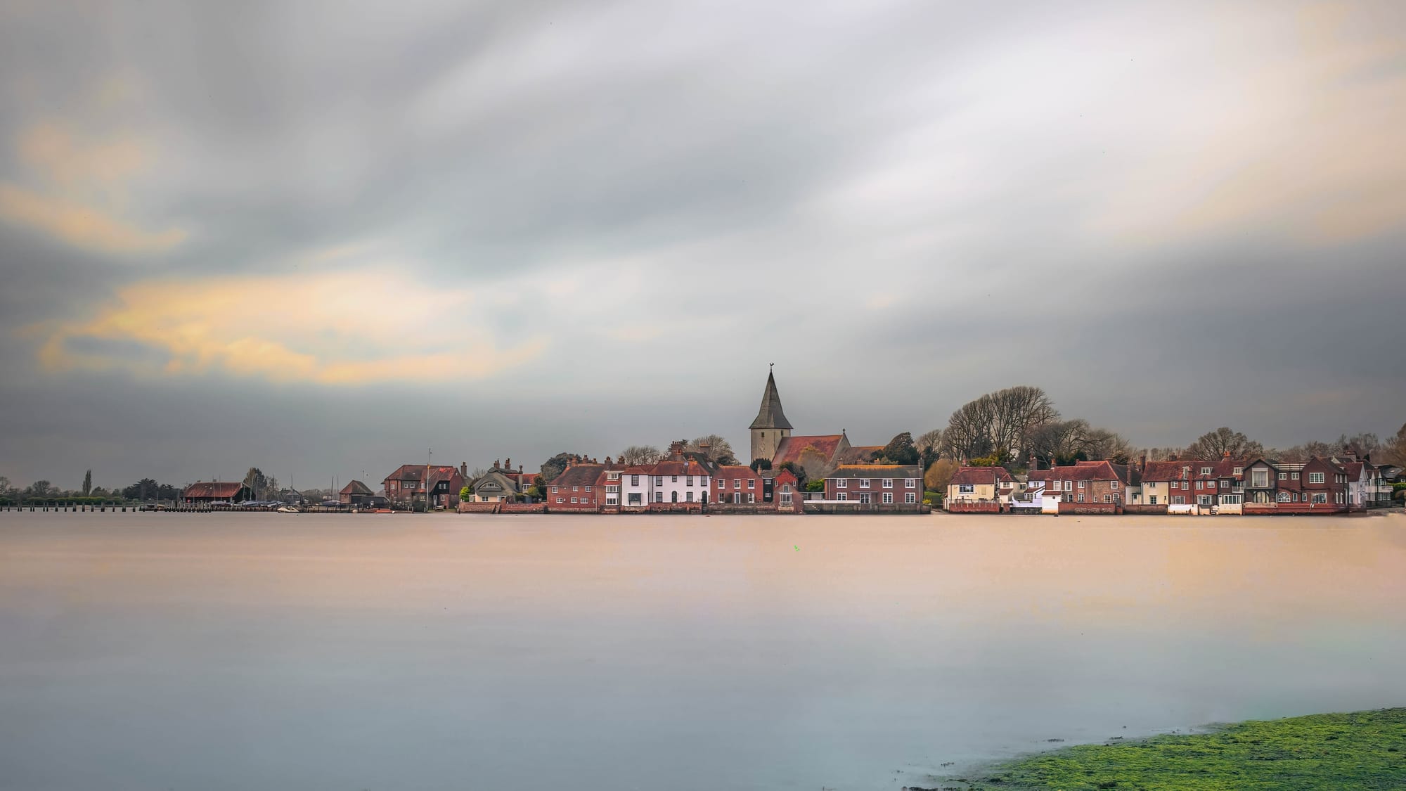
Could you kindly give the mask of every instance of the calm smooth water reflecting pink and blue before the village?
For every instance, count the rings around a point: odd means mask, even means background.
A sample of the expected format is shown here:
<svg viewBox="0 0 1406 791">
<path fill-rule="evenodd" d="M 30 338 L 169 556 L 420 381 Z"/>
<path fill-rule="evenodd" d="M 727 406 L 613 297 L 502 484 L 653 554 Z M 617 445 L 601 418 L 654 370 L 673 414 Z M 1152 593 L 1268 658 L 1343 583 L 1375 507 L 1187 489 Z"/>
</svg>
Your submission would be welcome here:
<svg viewBox="0 0 1406 791">
<path fill-rule="evenodd" d="M 1403 657 L 1399 515 L 0 514 L 25 791 L 897 790 Z"/>
</svg>

